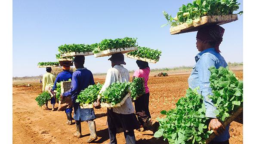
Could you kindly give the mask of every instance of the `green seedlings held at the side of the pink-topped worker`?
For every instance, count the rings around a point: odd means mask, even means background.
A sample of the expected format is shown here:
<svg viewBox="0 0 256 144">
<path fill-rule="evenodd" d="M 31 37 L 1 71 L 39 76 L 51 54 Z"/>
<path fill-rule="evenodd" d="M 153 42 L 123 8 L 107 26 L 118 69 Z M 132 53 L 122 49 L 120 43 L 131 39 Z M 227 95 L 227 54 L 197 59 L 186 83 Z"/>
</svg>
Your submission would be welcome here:
<svg viewBox="0 0 256 144">
<path fill-rule="evenodd" d="M 131 98 L 136 100 L 141 95 L 145 94 L 145 86 L 144 86 L 144 78 L 142 77 L 135 77 L 133 83 L 130 85 L 131 89 Z"/>
</svg>

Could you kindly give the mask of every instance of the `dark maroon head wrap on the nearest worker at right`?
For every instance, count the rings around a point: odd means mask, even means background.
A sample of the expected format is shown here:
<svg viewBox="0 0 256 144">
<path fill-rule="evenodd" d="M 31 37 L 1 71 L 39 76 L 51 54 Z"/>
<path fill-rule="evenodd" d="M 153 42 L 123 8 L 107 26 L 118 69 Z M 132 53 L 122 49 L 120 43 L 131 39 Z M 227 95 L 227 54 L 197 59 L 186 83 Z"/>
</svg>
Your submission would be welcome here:
<svg viewBox="0 0 256 144">
<path fill-rule="evenodd" d="M 197 39 L 207 42 L 215 42 L 215 50 L 220 52 L 219 45 L 222 42 L 222 36 L 225 29 L 219 25 L 211 25 L 200 28 L 197 31 Z"/>
</svg>

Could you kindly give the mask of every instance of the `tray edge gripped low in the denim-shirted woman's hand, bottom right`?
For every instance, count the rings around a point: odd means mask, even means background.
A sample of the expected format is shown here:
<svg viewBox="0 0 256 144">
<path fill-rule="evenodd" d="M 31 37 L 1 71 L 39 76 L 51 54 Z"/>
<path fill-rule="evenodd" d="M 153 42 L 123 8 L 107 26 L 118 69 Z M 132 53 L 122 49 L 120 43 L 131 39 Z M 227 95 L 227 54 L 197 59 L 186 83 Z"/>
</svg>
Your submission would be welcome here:
<svg viewBox="0 0 256 144">
<path fill-rule="evenodd" d="M 239 108 L 237 109 L 237 111 L 234 112 L 228 119 L 226 119 L 225 122 L 224 122 L 222 125 L 223 125 L 224 127 L 226 127 L 228 124 L 230 124 L 232 121 L 234 121 L 234 119 L 237 118 L 237 116 L 239 116 L 240 113 L 242 113 L 242 112 L 243 112 L 243 107 L 239 107 Z M 215 133 L 213 132 L 213 133 L 209 136 L 209 138 L 207 138 L 206 144 L 209 144 L 210 141 L 212 141 L 213 138 L 215 138 L 215 137 L 216 137 L 216 135 L 215 135 Z"/>
</svg>

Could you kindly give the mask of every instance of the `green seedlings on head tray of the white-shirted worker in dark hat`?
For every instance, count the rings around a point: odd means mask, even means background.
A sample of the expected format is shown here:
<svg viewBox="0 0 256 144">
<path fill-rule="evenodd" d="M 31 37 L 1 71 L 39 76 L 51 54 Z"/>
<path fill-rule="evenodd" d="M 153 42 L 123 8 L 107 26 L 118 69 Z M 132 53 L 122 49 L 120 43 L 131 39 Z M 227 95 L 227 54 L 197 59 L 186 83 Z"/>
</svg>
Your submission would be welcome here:
<svg viewBox="0 0 256 144">
<path fill-rule="evenodd" d="M 123 39 L 117 38 L 114 40 L 104 39 L 98 44 L 94 44 L 95 49 L 93 53 L 98 53 L 107 49 L 120 49 L 138 46 L 136 44 L 137 38 L 124 37 Z"/>
</svg>

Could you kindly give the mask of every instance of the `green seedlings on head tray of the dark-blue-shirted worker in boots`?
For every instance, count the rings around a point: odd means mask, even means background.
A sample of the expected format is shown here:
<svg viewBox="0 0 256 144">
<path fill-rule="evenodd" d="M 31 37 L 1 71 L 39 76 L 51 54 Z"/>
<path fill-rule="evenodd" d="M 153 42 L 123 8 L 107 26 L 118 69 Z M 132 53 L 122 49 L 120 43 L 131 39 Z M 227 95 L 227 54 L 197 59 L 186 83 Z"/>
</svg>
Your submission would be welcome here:
<svg viewBox="0 0 256 144">
<path fill-rule="evenodd" d="M 61 45 L 58 48 L 58 51 L 60 53 L 67 53 L 67 52 L 92 52 L 94 45 L 88 45 L 88 44 L 65 44 Z"/>
</svg>

